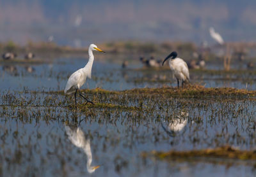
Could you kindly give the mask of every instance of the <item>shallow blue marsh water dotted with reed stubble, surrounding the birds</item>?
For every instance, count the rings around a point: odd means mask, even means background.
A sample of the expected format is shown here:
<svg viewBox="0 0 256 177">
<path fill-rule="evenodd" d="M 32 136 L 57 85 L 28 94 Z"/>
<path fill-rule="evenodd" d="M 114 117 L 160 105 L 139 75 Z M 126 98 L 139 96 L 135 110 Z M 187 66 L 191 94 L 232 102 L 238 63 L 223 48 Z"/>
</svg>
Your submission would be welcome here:
<svg viewBox="0 0 256 177">
<path fill-rule="evenodd" d="M 90 176 L 255 174 L 255 162 L 250 160 L 194 159 L 182 162 L 141 157 L 142 152 L 152 150 L 191 150 L 227 144 L 242 150 L 255 149 L 255 101 L 102 95 L 96 101 L 142 109 L 75 110 L 68 107 L 74 104 L 72 97 L 41 92 L 63 90 L 68 76 L 81 66 L 84 66 L 84 59 L 63 58 L 53 60 L 51 64 L 35 65 L 32 73 L 24 66 L 16 66 L 16 73 L 1 71 L 1 83 L 4 84 L 0 86 L 0 176 L 88 176 L 88 156 L 83 148 L 68 139 L 65 126 L 75 131 L 79 127 L 86 142 L 90 141 L 91 166 L 100 166 Z M 96 60 L 92 80 L 88 80 L 83 88 L 125 90 L 170 85 L 168 70 L 141 71 L 139 67 L 132 64 L 123 70 L 120 64 Z M 206 83 L 206 87 L 223 87 L 230 83 L 245 88 L 241 80 L 216 80 L 223 77 L 227 76 L 204 78 L 197 73 L 191 74 L 193 82 Z M 254 89 L 255 84 L 249 86 Z M 88 97 L 93 99 L 94 96 L 89 94 Z M 78 103 L 82 102 L 79 98 Z M 179 119 L 187 120 L 187 124 L 175 136 L 170 136 L 163 127 Z"/>
</svg>

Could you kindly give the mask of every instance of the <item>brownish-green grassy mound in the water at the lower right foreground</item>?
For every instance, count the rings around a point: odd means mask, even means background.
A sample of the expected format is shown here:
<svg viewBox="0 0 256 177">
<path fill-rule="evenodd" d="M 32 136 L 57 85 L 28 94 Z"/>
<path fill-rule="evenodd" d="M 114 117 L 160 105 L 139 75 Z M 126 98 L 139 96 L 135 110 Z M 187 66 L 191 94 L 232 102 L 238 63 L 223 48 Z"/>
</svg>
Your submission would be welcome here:
<svg viewBox="0 0 256 177">
<path fill-rule="evenodd" d="M 231 146 L 223 146 L 214 149 L 202 149 L 202 150 L 190 150 L 190 151 L 175 151 L 170 152 L 156 152 L 143 153 L 144 157 L 147 155 L 154 155 L 159 159 L 191 159 L 195 157 L 207 157 L 207 158 L 223 158 L 223 159 L 240 159 L 240 160 L 256 160 L 256 151 L 249 150 L 237 150 Z"/>
</svg>

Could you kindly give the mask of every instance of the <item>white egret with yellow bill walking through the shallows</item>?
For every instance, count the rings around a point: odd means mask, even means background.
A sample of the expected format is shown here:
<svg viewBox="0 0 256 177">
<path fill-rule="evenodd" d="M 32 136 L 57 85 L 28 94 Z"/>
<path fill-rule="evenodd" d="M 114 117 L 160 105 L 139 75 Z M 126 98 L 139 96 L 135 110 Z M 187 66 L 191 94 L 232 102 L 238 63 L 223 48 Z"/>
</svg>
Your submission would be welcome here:
<svg viewBox="0 0 256 177">
<path fill-rule="evenodd" d="M 80 87 L 82 87 L 82 85 L 85 83 L 86 78 L 91 78 L 92 76 L 92 64 L 93 64 L 93 60 L 94 60 L 94 56 L 92 51 L 93 50 L 98 50 L 99 52 L 103 52 L 102 50 L 100 50 L 99 48 L 97 48 L 96 45 L 91 44 L 89 46 L 88 49 L 88 53 L 89 53 L 89 60 L 86 64 L 86 66 L 84 66 L 83 68 L 77 70 L 75 73 L 73 73 L 67 81 L 67 85 L 65 87 L 64 93 L 65 94 L 72 94 L 75 93 L 75 101 L 76 101 L 76 92 L 77 90 L 79 90 Z M 80 91 L 79 91 L 79 96 L 83 97 L 84 99 L 86 99 L 84 96 L 81 95 Z M 86 104 L 92 103 L 92 101 L 88 101 L 88 99 L 86 99 Z"/>
</svg>

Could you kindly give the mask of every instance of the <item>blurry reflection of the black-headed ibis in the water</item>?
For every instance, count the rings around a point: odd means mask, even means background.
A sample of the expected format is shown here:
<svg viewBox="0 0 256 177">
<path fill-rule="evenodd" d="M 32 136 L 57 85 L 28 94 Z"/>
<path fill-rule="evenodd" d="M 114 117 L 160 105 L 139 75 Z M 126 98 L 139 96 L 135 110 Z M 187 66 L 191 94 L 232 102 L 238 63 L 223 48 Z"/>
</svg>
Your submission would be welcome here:
<svg viewBox="0 0 256 177">
<path fill-rule="evenodd" d="M 188 116 L 188 112 L 181 111 L 179 115 L 168 124 L 167 128 L 164 127 L 163 122 L 161 122 L 161 125 L 169 136 L 175 136 L 178 132 L 182 132 L 184 127 L 188 124 Z"/>
</svg>

